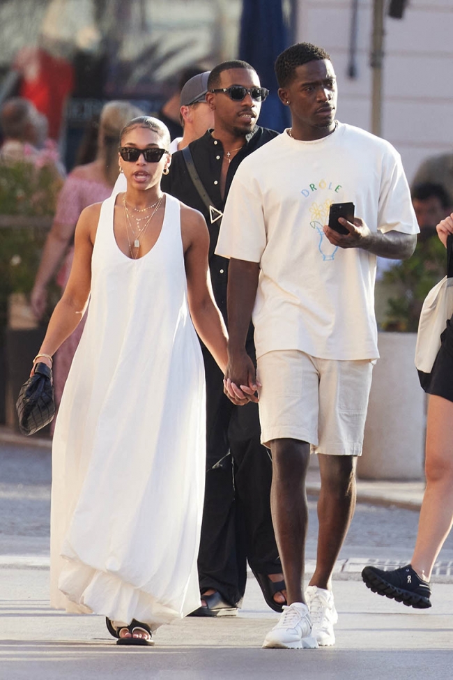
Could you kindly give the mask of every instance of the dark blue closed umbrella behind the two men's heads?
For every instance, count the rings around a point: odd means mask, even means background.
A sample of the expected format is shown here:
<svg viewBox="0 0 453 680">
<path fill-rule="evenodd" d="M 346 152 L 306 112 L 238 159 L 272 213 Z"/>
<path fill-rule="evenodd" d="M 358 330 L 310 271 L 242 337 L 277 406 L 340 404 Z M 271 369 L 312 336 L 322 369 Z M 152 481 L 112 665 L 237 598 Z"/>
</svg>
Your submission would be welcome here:
<svg viewBox="0 0 453 680">
<path fill-rule="evenodd" d="M 282 132 L 289 126 L 289 110 L 277 95 L 274 63 L 289 46 L 282 0 L 243 0 L 240 20 L 239 59 L 251 64 L 270 94 L 261 107 L 259 124 Z"/>
</svg>

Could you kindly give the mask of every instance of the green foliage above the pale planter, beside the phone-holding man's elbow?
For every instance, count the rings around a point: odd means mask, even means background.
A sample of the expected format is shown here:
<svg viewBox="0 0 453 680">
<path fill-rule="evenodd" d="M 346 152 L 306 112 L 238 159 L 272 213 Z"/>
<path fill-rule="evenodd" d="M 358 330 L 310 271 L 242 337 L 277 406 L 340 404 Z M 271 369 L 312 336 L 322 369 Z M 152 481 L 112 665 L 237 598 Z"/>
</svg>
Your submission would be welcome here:
<svg viewBox="0 0 453 680">
<path fill-rule="evenodd" d="M 399 295 L 387 300 L 384 330 L 416 333 L 423 301 L 446 271 L 447 255 L 437 235 L 419 241 L 412 257 L 386 271 L 383 282 L 397 285 Z"/>
</svg>

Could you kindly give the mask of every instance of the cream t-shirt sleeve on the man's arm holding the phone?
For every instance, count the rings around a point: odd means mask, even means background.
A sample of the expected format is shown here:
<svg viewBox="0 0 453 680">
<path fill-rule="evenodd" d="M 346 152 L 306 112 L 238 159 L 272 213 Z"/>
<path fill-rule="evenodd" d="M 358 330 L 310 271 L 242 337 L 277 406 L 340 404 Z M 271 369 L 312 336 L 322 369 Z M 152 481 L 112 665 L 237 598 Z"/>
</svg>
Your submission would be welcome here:
<svg viewBox="0 0 453 680">
<path fill-rule="evenodd" d="M 392 147 L 387 149 L 383 158 L 378 229 L 383 234 L 392 229 L 403 234 L 417 234 L 420 231 L 401 156 Z"/>
</svg>

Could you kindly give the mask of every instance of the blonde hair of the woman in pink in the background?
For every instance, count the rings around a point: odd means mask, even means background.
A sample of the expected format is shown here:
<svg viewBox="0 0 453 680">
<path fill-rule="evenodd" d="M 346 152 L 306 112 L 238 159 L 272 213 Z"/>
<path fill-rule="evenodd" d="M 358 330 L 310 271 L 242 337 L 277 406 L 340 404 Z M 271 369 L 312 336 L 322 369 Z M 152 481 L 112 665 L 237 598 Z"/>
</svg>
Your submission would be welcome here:
<svg viewBox="0 0 453 680">
<path fill-rule="evenodd" d="M 114 186 L 118 177 L 118 144 L 121 130 L 131 118 L 142 116 L 139 107 L 125 101 L 112 101 L 101 111 L 98 156 L 104 161 L 105 179 Z"/>
</svg>

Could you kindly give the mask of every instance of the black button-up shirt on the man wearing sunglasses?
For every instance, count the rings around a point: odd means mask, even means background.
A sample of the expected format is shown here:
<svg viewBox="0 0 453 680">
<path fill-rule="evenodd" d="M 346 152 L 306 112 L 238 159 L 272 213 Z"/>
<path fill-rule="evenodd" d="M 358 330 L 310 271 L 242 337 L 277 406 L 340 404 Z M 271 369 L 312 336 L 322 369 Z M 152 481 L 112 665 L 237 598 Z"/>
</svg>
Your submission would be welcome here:
<svg viewBox="0 0 453 680">
<path fill-rule="evenodd" d="M 225 195 L 222 199 L 220 195 L 220 173 L 222 169 L 222 160 L 224 156 L 224 149 L 222 142 L 214 139 L 210 134 L 212 130 L 208 130 L 206 135 L 196 139 L 189 144 L 190 152 L 194 160 L 194 165 L 200 176 L 201 182 L 208 193 L 213 207 L 223 213 L 225 202 L 227 200 L 231 181 L 234 173 L 238 169 L 239 164 L 249 153 L 263 146 L 270 139 L 277 137 L 279 133 L 275 130 L 268 130 L 268 128 L 260 128 L 255 126 L 251 133 L 245 137 L 245 144 L 242 149 L 231 159 L 231 163 L 227 172 L 227 181 L 225 183 Z M 187 172 L 187 165 L 183 158 L 182 151 L 176 151 L 171 156 L 171 165 L 169 174 L 162 176 L 161 182 L 162 190 L 175 196 L 181 202 L 199 210 L 208 225 L 210 234 L 209 247 L 209 268 L 210 276 L 213 281 L 213 292 L 215 301 L 219 305 L 220 311 L 227 320 L 227 272 L 229 260 L 219 255 L 214 255 L 215 246 L 219 237 L 219 229 L 221 220 L 217 220 L 213 224 L 210 223 L 210 216 L 208 209 L 201 200 L 197 189 L 194 187 L 192 179 L 190 179 Z"/>
</svg>

